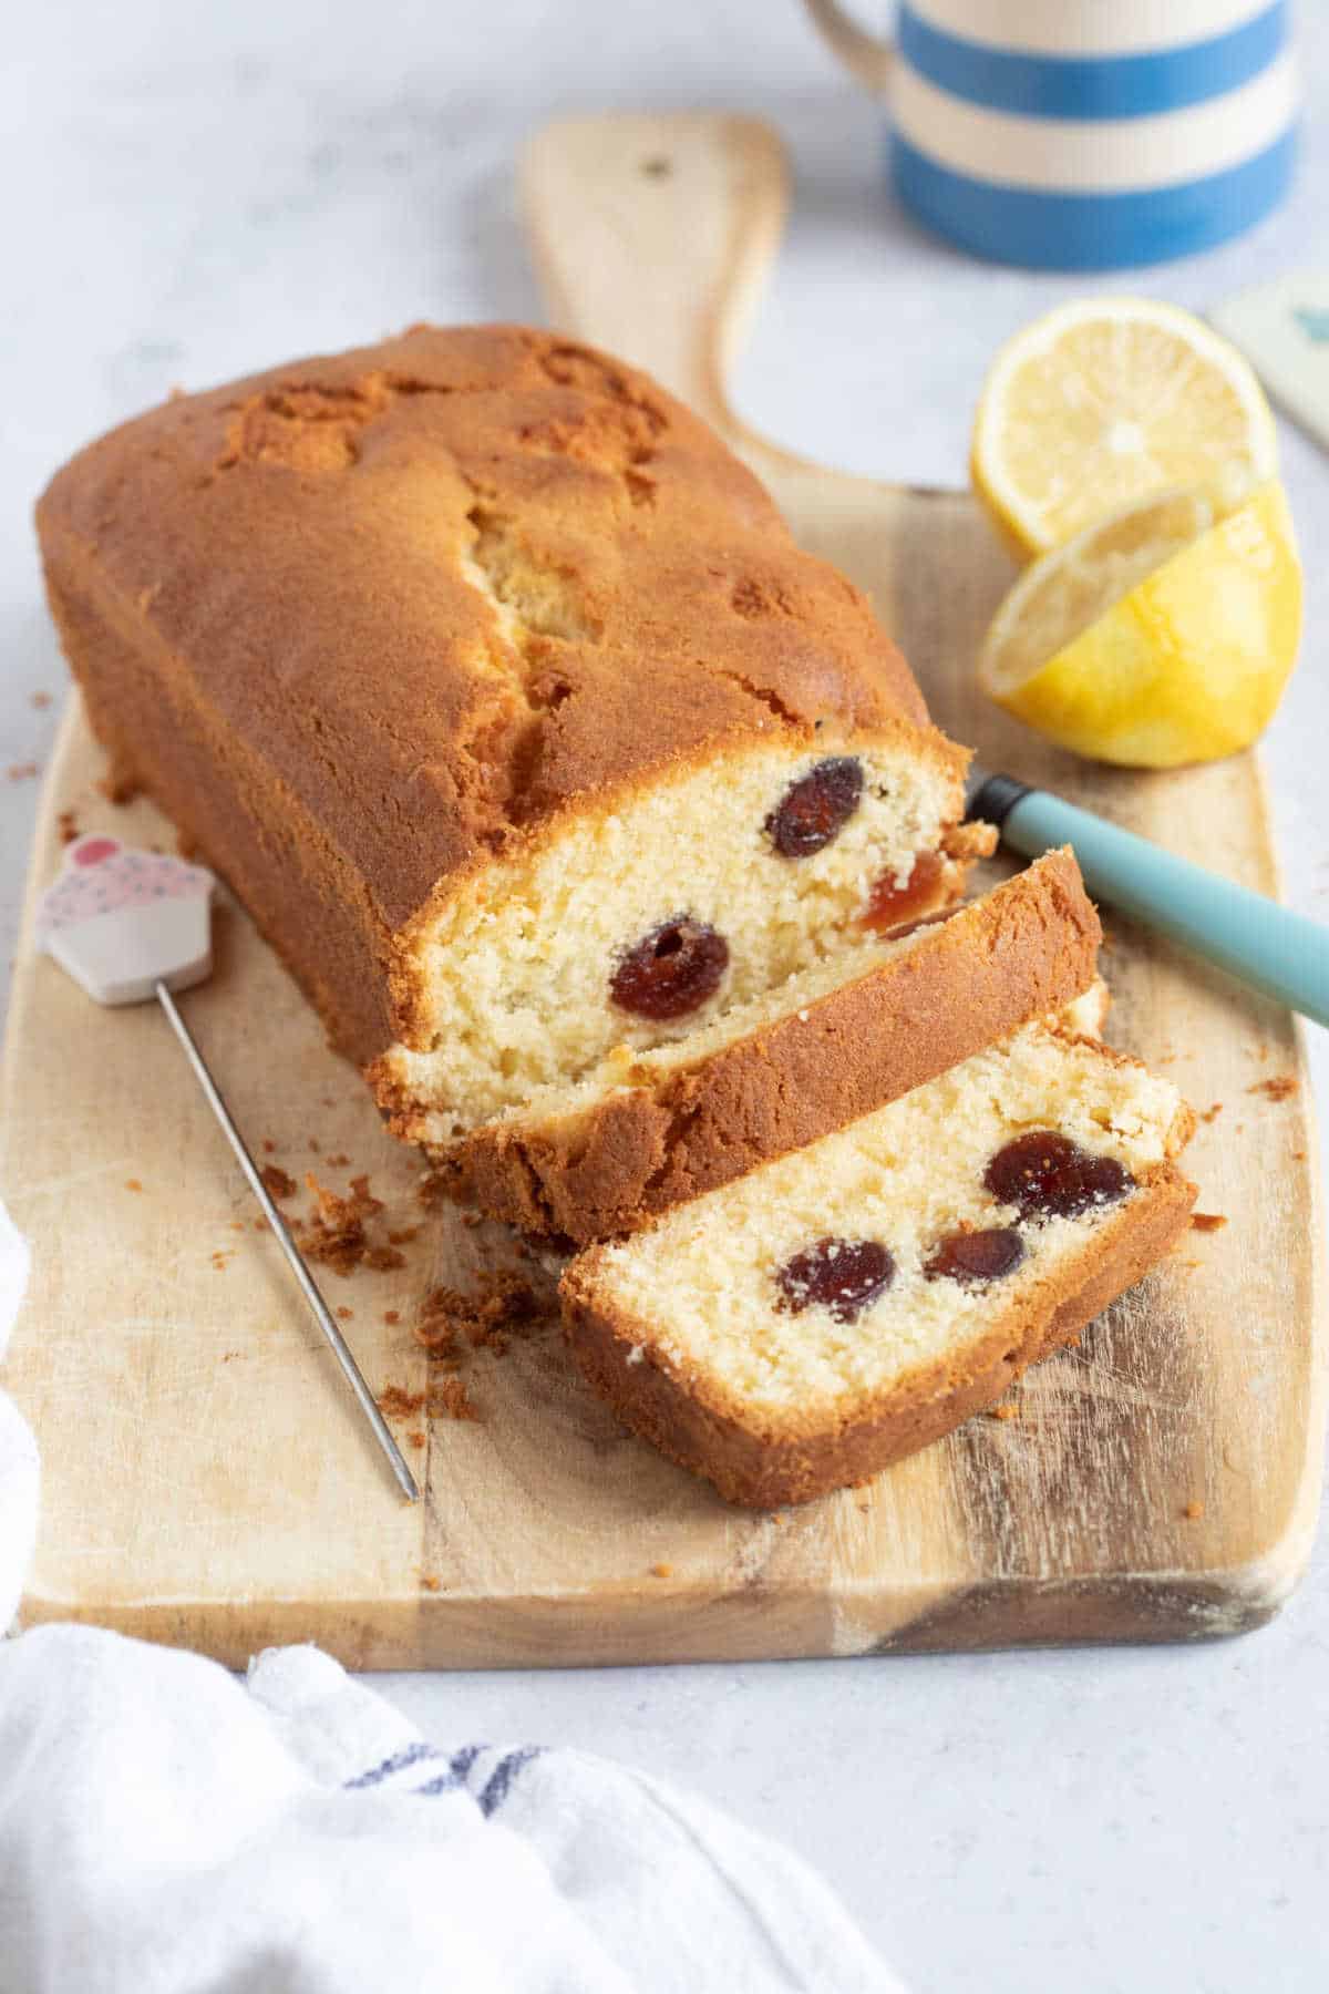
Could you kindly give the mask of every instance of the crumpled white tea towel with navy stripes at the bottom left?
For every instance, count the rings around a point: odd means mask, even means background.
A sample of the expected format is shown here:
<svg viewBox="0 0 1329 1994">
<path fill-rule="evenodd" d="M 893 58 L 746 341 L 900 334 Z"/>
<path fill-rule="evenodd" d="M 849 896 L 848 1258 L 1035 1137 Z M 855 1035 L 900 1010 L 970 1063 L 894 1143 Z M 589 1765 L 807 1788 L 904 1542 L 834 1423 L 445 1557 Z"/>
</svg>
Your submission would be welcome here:
<svg viewBox="0 0 1329 1994">
<path fill-rule="evenodd" d="M 34 1515 L 0 1396 L 0 1611 Z M 428 1743 L 313 1647 L 241 1683 L 92 1627 L 0 1641 L 0 1988 L 901 1994 L 803 1862 L 654 1779 Z"/>
</svg>

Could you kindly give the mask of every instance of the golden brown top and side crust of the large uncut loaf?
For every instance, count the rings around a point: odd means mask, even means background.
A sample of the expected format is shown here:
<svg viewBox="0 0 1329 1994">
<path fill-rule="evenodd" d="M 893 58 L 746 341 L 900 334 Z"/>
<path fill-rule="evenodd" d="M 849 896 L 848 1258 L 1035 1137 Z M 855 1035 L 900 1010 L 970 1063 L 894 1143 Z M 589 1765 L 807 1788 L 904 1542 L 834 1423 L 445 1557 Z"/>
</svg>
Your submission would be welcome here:
<svg viewBox="0 0 1329 1994">
<path fill-rule="evenodd" d="M 414 327 L 169 401 L 38 530 L 118 774 L 361 1059 L 410 1031 L 430 899 L 560 816 L 755 740 L 964 762 L 705 425 L 552 333 Z"/>
</svg>

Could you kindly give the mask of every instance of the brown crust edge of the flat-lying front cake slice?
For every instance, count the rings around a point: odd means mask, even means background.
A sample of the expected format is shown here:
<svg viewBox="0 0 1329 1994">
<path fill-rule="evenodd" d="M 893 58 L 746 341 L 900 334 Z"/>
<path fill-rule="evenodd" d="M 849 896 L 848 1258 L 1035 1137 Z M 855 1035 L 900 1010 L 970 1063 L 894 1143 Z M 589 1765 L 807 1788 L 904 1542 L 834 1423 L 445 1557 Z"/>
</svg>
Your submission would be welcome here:
<svg viewBox="0 0 1329 1994">
<path fill-rule="evenodd" d="M 1186 1226 L 1196 1186 L 1172 1163 L 1142 1172 L 1120 1212 L 1086 1232 L 1056 1280 L 1000 1308 L 980 1342 L 938 1360 L 891 1390 L 859 1398 L 835 1422 L 763 1420 L 699 1370 L 665 1364 L 652 1330 L 602 1300 L 600 1248 L 562 1276 L 564 1334 L 596 1392 L 654 1448 L 753 1509 L 809 1501 L 867 1482 L 992 1406 L 1030 1364 L 1066 1344 L 1108 1302 L 1132 1288 Z M 640 1356 L 636 1356 L 640 1352 Z"/>
</svg>

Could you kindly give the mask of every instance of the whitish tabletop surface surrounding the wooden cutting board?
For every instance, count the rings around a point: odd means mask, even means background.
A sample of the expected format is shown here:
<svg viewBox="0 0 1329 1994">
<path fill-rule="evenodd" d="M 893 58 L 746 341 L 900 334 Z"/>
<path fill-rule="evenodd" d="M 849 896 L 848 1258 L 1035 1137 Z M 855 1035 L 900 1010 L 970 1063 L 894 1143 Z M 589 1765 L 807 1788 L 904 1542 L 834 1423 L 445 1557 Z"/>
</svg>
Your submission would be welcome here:
<svg viewBox="0 0 1329 1994">
<path fill-rule="evenodd" d="M 1293 205 L 1114 289 L 1203 309 L 1329 261 L 1321 0 L 1301 40 Z M 960 483 L 994 343 L 1094 287 L 915 233 L 877 110 L 795 0 L 28 6 L 0 80 L 0 766 L 46 758 L 64 686 L 28 516 L 50 471 L 175 383 L 418 317 L 538 317 L 512 150 L 610 104 L 741 108 L 791 142 L 797 215 L 737 395 L 809 455 Z M 1267 758 L 1289 897 L 1329 917 L 1329 459 L 1295 431 L 1283 449 L 1309 624 Z M 0 782 L 6 963 L 34 802 Z M 1281 1619 L 1213 1647 L 381 1681 L 440 1739 L 586 1745 L 785 1834 L 921 1994 L 1329 1984 L 1323 1549 Z"/>
</svg>

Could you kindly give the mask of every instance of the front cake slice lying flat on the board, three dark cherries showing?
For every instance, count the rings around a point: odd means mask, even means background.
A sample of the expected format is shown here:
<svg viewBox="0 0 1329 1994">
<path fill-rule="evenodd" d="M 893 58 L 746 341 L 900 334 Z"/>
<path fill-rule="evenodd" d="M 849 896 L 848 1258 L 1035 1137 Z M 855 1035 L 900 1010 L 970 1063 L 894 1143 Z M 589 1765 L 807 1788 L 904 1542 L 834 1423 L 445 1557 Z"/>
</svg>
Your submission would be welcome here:
<svg viewBox="0 0 1329 1994">
<path fill-rule="evenodd" d="M 1194 1115 L 1044 1023 L 821 1143 L 592 1246 L 576 1362 L 731 1501 L 863 1482 L 990 1406 L 1168 1250 Z"/>
</svg>

